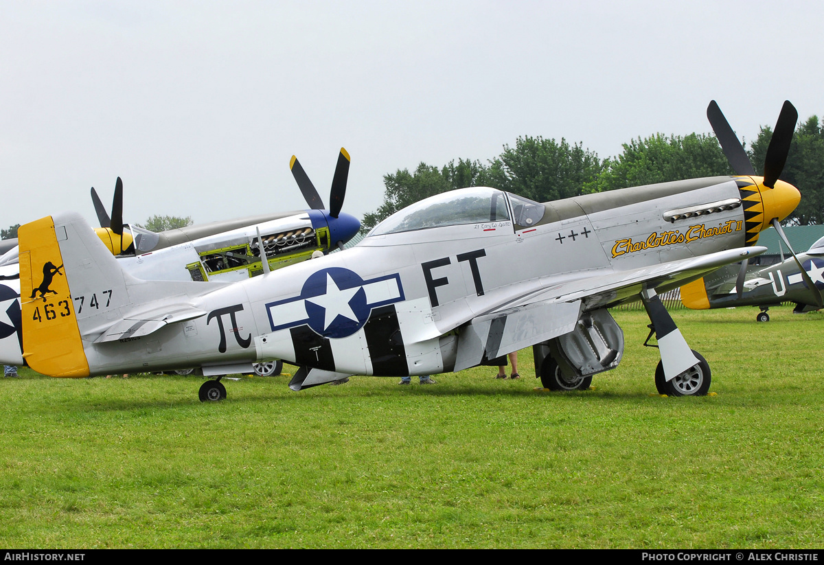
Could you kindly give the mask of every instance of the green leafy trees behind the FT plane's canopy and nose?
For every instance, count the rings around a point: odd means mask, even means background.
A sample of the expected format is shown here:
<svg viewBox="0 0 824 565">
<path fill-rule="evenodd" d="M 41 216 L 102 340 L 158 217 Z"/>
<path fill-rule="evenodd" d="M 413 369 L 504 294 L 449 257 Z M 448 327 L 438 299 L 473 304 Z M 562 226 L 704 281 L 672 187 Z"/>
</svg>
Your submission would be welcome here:
<svg viewBox="0 0 824 565">
<path fill-rule="evenodd" d="M 745 147 L 756 175 L 763 175 L 771 138 L 772 129 L 762 127 L 756 140 Z M 411 173 L 398 169 L 384 175 L 383 203 L 365 215 L 363 231 L 411 203 L 467 186 L 492 186 L 536 202 L 548 202 L 642 184 L 733 175 L 714 135 L 656 133 L 624 143 L 623 149 L 619 156 L 601 159 L 582 143 L 570 145 L 564 138 L 556 142 L 526 136 L 518 138 L 515 147 L 504 145 L 503 152 L 487 163 L 458 159 L 440 168 L 421 163 Z M 824 223 L 824 127 L 817 116 L 796 128 L 780 178 L 794 184 L 802 195 L 798 208 L 785 223 Z"/>
</svg>

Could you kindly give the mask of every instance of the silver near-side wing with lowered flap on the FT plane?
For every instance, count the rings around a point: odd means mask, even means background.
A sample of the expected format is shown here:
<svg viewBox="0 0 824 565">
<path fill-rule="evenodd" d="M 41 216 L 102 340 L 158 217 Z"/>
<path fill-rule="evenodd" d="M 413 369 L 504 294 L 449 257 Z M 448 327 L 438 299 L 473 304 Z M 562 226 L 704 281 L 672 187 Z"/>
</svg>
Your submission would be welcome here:
<svg viewBox="0 0 824 565">
<path fill-rule="evenodd" d="M 513 298 L 462 326 L 455 371 L 567 334 L 578 323 L 581 311 L 639 298 L 647 288 L 665 291 L 680 287 L 766 250 L 760 246 L 725 250 L 629 271 L 598 271 L 564 283 L 549 281 L 541 289 Z"/>
</svg>

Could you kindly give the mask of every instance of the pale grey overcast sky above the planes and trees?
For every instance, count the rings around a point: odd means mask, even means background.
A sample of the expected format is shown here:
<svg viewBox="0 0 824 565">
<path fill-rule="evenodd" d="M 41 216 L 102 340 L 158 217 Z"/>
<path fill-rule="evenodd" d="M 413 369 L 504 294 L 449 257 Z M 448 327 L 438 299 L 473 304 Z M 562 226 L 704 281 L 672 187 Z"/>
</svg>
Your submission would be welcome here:
<svg viewBox="0 0 824 565">
<path fill-rule="evenodd" d="M 655 132 L 824 114 L 824 2 L 2 2 L 0 227 L 60 210 L 195 222 L 382 202 L 383 175 L 519 136 L 601 157 Z"/>
</svg>

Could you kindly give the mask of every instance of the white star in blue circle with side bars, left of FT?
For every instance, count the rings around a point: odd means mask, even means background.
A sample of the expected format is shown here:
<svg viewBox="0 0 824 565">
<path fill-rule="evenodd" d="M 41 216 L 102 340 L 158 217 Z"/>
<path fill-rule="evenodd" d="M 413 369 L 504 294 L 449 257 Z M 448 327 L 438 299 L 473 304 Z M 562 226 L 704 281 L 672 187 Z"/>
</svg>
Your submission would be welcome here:
<svg viewBox="0 0 824 565">
<path fill-rule="evenodd" d="M 266 305 L 272 331 L 308 325 L 325 338 L 345 338 L 366 324 L 373 308 L 404 299 L 397 274 L 364 281 L 348 268 L 312 273 L 298 297 Z"/>
</svg>

